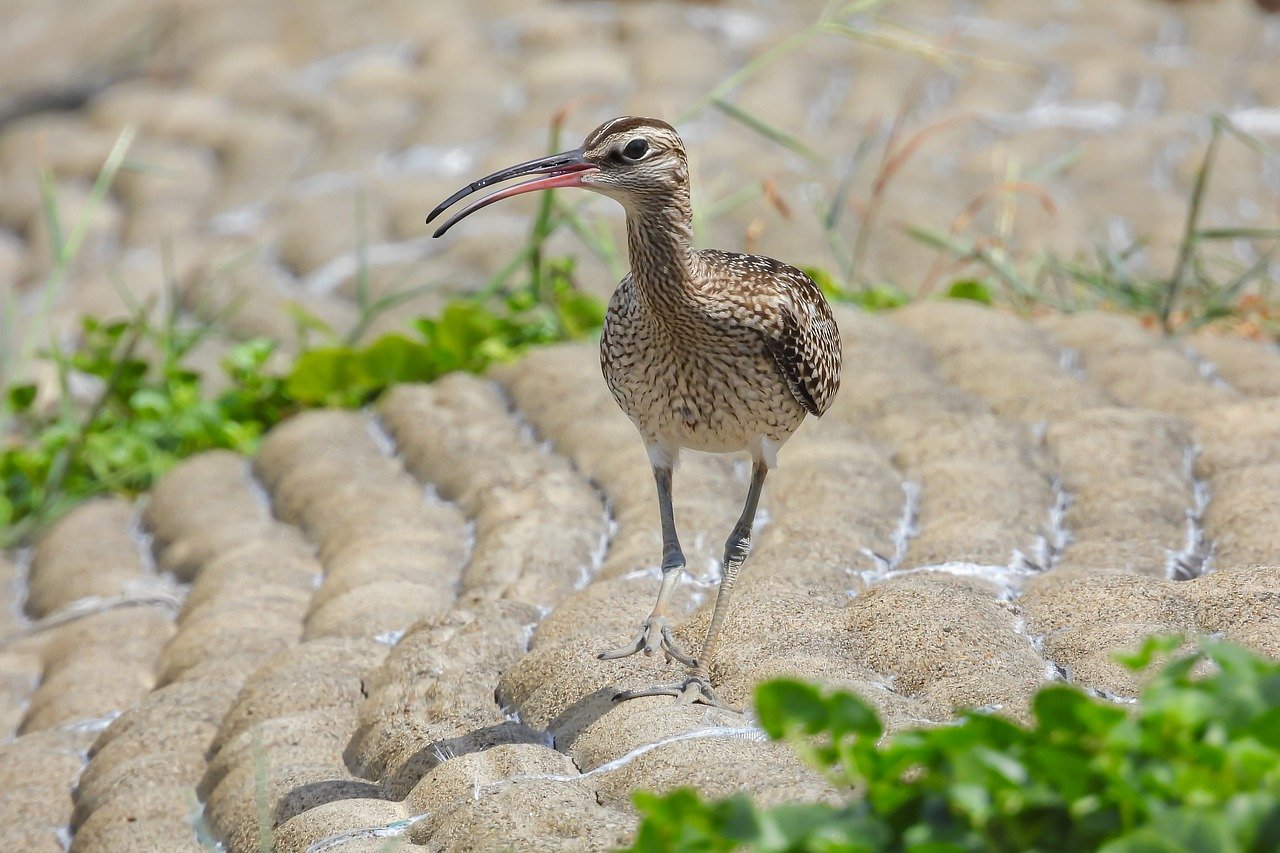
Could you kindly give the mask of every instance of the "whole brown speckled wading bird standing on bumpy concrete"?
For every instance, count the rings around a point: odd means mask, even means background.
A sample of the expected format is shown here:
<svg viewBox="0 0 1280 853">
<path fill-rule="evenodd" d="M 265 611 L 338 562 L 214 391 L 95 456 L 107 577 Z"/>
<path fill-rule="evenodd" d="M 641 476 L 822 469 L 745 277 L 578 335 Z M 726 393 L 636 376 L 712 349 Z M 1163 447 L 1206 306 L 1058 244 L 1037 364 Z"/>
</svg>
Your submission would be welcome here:
<svg viewBox="0 0 1280 853">
<path fill-rule="evenodd" d="M 531 177 L 530 175 L 538 175 Z M 598 654 L 654 656 L 687 667 L 675 684 L 616 694 L 673 695 L 728 707 L 712 683 L 724 617 L 751 549 L 756 506 L 778 450 L 808 416 L 820 418 L 840 387 L 840 330 L 822 289 L 804 272 L 762 255 L 696 248 L 689 159 L 667 122 L 611 119 L 577 149 L 500 169 L 445 199 L 426 222 L 462 199 L 513 178 L 530 178 L 457 210 L 435 231 L 516 195 L 579 187 L 622 205 L 631 269 L 617 286 L 600 336 L 605 383 L 644 441 L 658 492 L 662 583 L 635 639 Z M 696 654 L 672 635 L 668 608 L 681 575 L 672 479 L 682 450 L 746 452 L 751 480 L 724 543 L 710 625 Z"/>
</svg>

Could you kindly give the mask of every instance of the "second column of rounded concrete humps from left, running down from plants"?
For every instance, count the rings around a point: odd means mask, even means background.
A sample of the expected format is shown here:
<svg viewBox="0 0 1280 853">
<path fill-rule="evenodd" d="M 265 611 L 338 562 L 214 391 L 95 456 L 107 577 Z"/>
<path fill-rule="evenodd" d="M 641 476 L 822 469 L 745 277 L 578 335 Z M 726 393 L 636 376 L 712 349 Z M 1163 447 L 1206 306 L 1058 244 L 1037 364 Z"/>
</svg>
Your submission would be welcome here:
<svg viewBox="0 0 1280 853">
<path fill-rule="evenodd" d="M 271 521 L 247 460 L 196 456 L 143 512 L 161 569 L 193 581 L 156 661 L 160 686 L 109 725 L 76 789 L 77 849 L 200 849 L 205 752 L 264 658 L 298 642 L 317 566 Z"/>
</svg>

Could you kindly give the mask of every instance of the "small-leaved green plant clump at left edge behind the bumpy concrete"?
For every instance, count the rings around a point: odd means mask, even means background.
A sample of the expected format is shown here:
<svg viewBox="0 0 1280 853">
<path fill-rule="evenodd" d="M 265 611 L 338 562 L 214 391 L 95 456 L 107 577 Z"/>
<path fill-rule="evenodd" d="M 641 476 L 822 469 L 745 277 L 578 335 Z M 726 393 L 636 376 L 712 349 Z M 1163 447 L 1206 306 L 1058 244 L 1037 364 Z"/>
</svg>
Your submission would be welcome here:
<svg viewBox="0 0 1280 853">
<path fill-rule="evenodd" d="M 142 492 L 192 453 L 256 448 L 294 407 L 265 369 L 275 345 L 233 346 L 221 361 L 228 388 L 209 394 L 183 364 L 205 333 L 175 321 L 154 325 L 146 309 L 113 323 L 86 318 L 74 351 L 49 353 L 61 384 L 51 411 L 37 410 L 35 386 L 8 389 L 4 403 L 18 432 L 0 448 L 0 544 L 26 540 L 95 494 Z M 143 345 L 154 357 L 141 355 Z M 74 402 L 73 384 L 88 388 L 87 403 Z"/>
</svg>

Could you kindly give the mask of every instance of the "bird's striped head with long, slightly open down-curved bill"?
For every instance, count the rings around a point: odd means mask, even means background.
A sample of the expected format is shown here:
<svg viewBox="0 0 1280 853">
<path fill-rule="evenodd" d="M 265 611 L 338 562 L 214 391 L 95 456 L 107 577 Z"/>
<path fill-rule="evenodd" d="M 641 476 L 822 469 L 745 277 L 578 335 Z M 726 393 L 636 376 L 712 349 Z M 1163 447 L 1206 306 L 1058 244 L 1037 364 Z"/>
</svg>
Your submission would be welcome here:
<svg viewBox="0 0 1280 853">
<path fill-rule="evenodd" d="M 591 131 L 572 151 L 529 160 L 468 183 L 445 199 L 426 222 L 485 187 L 527 175 L 544 175 L 499 190 L 474 201 L 449 216 L 436 231 L 439 237 L 458 220 L 495 201 L 536 190 L 582 187 L 618 201 L 628 211 L 668 204 L 689 186 L 685 146 L 660 119 L 623 115 Z"/>
</svg>

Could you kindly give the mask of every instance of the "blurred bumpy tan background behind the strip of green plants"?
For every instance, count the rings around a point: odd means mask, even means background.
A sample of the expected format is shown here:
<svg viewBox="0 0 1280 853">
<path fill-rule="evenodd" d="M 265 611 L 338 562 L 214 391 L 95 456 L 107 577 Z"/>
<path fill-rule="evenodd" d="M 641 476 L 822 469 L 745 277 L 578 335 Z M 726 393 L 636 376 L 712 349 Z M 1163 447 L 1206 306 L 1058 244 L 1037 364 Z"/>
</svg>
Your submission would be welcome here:
<svg viewBox="0 0 1280 853">
<path fill-rule="evenodd" d="M 285 353 L 308 330 L 402 328 L 493 287 L 539 202 L 443 241 L 428 210 L 617 114 L 677 124 L 703 245 L 846 292 L 972 277 L 1052 296 L 1046 265 L 1080 259 L 1167 274 L 1212 141 L 1199 223 L 1238 229 L 1220 261 L 1268 295 L 1249 231 L 1280 214 L 1262 5 L 0 0 L 5 364 L 141 304 Z M 561 195 L 547 250 L 604 297 L 621 210 Z"/>
</svg>

